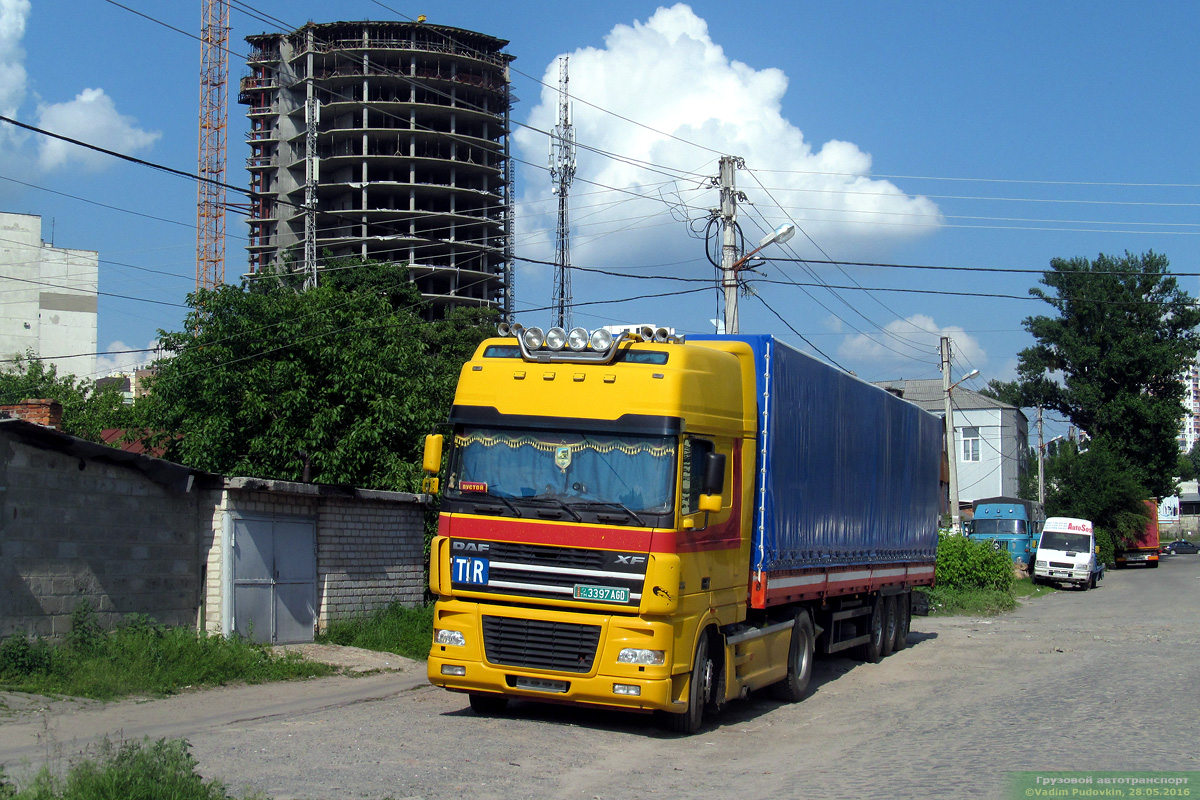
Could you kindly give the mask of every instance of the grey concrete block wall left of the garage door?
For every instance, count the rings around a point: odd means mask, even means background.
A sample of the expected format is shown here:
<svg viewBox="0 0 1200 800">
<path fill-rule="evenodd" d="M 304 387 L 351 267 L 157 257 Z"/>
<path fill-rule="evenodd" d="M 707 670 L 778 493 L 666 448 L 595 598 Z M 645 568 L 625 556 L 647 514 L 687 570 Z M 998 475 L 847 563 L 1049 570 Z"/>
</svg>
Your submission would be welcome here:
<svg viewBox="0 0 1200 800">
<path fill-rule="evenodd" d="M 61 637 L 83 600 L 194 625 L 196 495 L 137 470 L 0 437 L 0 638 Z"/>
</svg>

